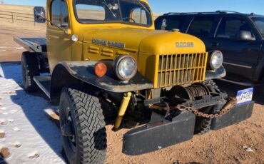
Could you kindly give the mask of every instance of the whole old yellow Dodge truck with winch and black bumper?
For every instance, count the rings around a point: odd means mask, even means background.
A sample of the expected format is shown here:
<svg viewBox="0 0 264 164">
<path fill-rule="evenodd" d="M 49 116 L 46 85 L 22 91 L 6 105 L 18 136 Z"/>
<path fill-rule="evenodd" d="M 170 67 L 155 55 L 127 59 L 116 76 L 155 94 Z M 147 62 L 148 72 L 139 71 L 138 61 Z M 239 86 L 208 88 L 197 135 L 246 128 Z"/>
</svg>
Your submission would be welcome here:
<svg viewBox="0 0 264 164">
<path fill-rule="evenodd" d="M 105 162 L 106 125 L 131 129 L 122 151 L 140 155 L 250 118 L 253 101 L 236 106 L 213 82 L 225 76 L 223 54 L 155 31 L 146 0 L 48 0 L 46 10 L 34 9 L 46 39 L 15 41 L 28 49 L 25 91 L 59 103 L 69 163 Z"/>
</svg>

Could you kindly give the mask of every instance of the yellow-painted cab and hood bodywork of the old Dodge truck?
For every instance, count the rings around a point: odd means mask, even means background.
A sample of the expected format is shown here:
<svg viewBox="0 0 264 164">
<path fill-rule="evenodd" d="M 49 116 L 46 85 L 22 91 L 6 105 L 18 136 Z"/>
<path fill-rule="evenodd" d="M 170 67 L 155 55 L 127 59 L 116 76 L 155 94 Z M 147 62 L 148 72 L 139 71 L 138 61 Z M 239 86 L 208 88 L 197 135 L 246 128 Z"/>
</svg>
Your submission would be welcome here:
<svg viewBox="0 0 264 164">
<path fill-rule="evenodd" d="M 148 2 L 142 0 L 143 2 Z M 158 62 L 162 55 L 173 54 L 196 54 L 205 53 L 203 41 L 188 34 L 182 34 L 177 31 L 155 31 L 154 22 L 151 26 L 136 26 L 131 24 L 81 24 L 76 20 L 73 11 L 73 0 L 66 0 L 68 5 L 69 34 L 76 34 L 78 41 L 71 41 L 71 36 L 64 34 L 63 31 L 56 29 L 48 24 L 48 56 L 51 71 L 59 61 L 101 61 L 113 60 L 119 55 L 131 55 L 138 61 L 138 71 L 141 75 L 153 82 L 155 88 L 177 85 L 182 83 L 173 83 L 171 85 L 158 85 Z M 47 6 L 50 6 L 51 0 L 48 0 Z M 152 13 L 152 11 L 151 11 Z M 49 16 L 49 7 L 47 7 L 47 16 Z M 153 19 L 154 20 L 154 19 Z M 56 37 L 52 40 L 52 37 Z M 49 40 L 51 38 L 51 40 Z M 125 43 L 124 48 L 115 48 L 92 43 L 92 39 L 106 41 L 115 41 Z M 193 47 L 177 48 L 177 42 L 193 42 Z M 205 66 L 207 54 L 204 60 L 198 60 L 196 66 L 203 67 L 199 73 L 197 81 L 205 79 Z M 181 68 L 179 68 L 181 69 Z M 183 78 L 186 75 L 182 76 Z M 190 83 L 194 83 L 191 81 Z"/>
</svg>

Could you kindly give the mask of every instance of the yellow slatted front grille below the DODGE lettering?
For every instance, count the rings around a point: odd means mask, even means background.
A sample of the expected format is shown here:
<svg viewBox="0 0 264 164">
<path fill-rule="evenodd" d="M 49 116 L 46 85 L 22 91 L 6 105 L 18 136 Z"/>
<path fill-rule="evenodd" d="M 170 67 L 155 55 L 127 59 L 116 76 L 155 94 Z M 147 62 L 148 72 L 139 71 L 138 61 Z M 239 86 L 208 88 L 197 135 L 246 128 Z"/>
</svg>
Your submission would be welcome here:
<svg viewBox="0 0 264 164">
<path fill-rule="evenodd" d="M 159 56 L 158 87 L 204 81 L 208 53 L 165 54 Z"/>
</svg>

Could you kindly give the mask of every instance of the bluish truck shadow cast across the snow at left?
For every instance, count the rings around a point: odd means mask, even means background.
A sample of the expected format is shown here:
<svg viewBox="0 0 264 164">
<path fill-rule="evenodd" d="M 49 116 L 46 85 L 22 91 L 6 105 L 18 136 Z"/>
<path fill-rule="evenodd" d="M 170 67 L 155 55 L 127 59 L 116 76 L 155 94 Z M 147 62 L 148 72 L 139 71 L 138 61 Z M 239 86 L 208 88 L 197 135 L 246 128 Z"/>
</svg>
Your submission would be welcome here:
<svg viewBox="0 0 264 164">
<path fill-rule="evenodd" d="M 0 67 L 0 73 L 2 70 L 4 78 L 15 81 L 19 86 L 22 85 L 20 63 L 0 63 Z M 55 123 L 49 120 L 49 116 L 45 112 L 47 109 L 56 111 L 58 107 L 52 106 L 44 93 L 39 92 L 32 95 L 26 93 L 20 87 L 16 88 L 16 91 L 14 91 L 14 94 L 11 94 L 10 98 L 11 101 L 21 106 L 26 118 L 34 126 L 41 138 L 45 140 L 49 147 L 61 159 L 64 159 L 64 155 L 61 154 L 62 143 L 60 130 Z"/>
</svg>

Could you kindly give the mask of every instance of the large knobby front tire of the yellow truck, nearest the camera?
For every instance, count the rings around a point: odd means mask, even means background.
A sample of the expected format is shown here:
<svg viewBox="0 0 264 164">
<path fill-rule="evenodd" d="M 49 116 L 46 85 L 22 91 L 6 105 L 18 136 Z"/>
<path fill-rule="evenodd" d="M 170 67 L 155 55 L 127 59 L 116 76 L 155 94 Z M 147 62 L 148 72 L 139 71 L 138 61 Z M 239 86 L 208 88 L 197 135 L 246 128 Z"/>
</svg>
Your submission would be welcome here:
<svg viewBox="0 0 264 164">
<path fill-rule="evenodd" d="M 64 88 L 61 92 L 60 125 L 62 128 L 71 122 L 75 141 L 63 135 L 64 150 L 71 164 L 97 164 L 106 160 L 106 123 L 101 104 L 92 94 L 83 87 Z"/>
</svg>

